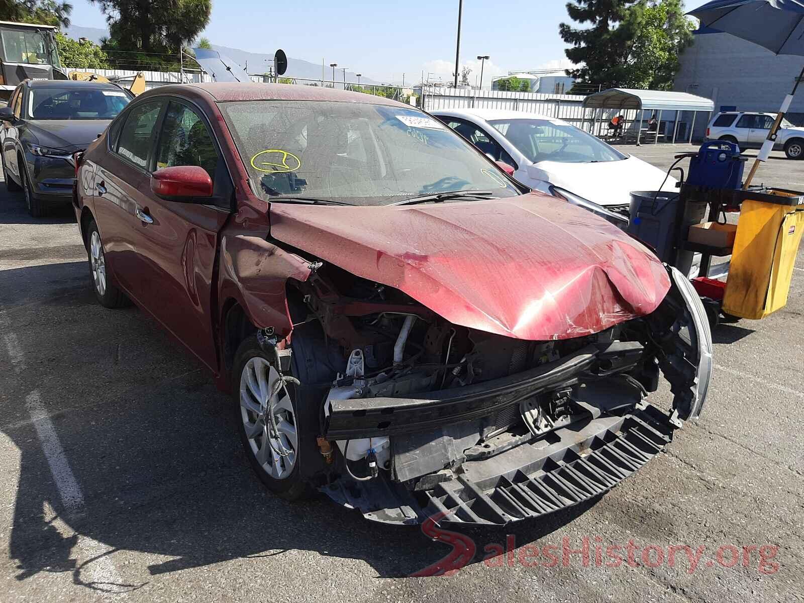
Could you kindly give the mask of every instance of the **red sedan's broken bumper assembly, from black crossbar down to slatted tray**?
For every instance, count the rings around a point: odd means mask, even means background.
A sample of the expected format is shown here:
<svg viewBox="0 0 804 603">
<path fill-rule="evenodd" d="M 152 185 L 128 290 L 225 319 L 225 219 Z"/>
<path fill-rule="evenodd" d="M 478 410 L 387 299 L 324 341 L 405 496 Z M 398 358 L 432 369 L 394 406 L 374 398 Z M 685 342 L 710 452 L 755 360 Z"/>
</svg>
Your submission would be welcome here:
<svg viewBox="0 0 804 603">
<path fill-rule="evenodd" d="M 330 400 L 330 440 L 388 436 L 377 478 L 338 478 L 322 492 L 367 519 L 504 525 L 572 507 L 617 486 L 699 416 L 712 376 L 712 334 L 695 289 L 676 269 L 662 306 L 634 341 L 593 343 L 552 363 L 465 388 L 406 398 Z M 644 400 L 661 374 L 673 404 Z M 635 378 L 639 376 L 642 381 Z M 650 381 L 648 387 L 646 383 Z M 532 435 L 528 400 L 571 392 L 580 414 Z M 551 398 L 554 400 L 554 398 Z M 523 414 L 525 413 L 525 414 Z M 530 416 L 532 420 L 532 416 Z"/>
</svg>

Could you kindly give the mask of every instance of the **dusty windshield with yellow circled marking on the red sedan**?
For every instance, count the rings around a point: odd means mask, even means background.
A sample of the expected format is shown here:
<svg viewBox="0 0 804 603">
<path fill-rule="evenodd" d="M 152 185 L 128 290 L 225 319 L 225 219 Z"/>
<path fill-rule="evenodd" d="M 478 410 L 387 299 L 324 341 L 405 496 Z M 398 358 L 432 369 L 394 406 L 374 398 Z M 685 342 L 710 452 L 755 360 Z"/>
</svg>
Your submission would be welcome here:
<svg viewBox="0 0 804 603">
<path fill-rule="evenodd" d="M 519 195 L 452 130 L 416 109 L 338 101 L 221 103 L 256 193 L 386 205 L 419 195 Z"/>
</svg>

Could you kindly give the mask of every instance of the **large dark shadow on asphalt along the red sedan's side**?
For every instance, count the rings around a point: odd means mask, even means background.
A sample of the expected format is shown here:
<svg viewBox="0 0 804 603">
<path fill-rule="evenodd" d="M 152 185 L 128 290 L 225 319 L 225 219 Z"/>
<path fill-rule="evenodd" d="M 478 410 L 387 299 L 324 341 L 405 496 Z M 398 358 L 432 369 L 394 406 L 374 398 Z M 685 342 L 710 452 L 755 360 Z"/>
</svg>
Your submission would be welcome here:
<svg viewBox="0 0 804 603">
<path fill-rule="evenodd" d="M 98 306 L 83 262 L 2 275 L 4 334 L 13 332 L 24 354 L 12 365 L 0 348 L 0 420 L 20 453 L 9 542 L 17 580 L 72 572 L 76 585 L 119 593 L 169 572 L 242 558 L 271 564 L 294 550 L 364 560 L 382 577 L 409 576 L 450 552 L 419 527 L 371 523 L 324 496 L 288 503 L 269 494 L 240 448 L 234 403 L 141 311 Z M 80 488 L 77 509 L 55 482 L 32 399 Z M 52 455 L 50 445 L 50 463 Z M 486 546 L 504 545 L 508 534 L 519 546 L 530 543 L 593 504 L 466 530 L 477 544 L 470 563 L 482 563 Z M 82 539 L 99 543 L 100 553 L 85 559 Z M 105 558 L 125 560 L 119 583 L 93 580 Z"/>
</svg>

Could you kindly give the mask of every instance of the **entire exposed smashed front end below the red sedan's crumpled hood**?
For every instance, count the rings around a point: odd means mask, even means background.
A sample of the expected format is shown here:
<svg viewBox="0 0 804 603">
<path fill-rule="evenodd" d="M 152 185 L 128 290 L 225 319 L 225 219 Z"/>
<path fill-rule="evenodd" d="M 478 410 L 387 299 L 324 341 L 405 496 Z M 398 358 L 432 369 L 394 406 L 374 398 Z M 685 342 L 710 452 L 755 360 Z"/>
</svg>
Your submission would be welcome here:
<svg viewBox="0 0 804 603">
<path fill-rule="evenodd" d="M 679 276 L 648 316 L 527 341 L 317 263 L 296 285 L 294 317 L 320 324 L 334 372 L 317 409 L 325 462 L 310 481 L 389 523 L 507 523 L 608 490 L 704 402 L 711 335 Z M 670 414 L 646 402 L 661 374 Z"/>
</svg>

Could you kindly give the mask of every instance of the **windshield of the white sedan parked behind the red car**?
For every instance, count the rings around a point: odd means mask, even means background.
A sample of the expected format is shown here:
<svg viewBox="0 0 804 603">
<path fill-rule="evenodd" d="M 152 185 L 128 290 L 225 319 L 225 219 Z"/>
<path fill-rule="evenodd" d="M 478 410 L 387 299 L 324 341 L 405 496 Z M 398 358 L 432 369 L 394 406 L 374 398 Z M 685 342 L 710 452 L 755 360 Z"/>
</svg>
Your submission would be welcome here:
<svg viewBox="0 0 804 603">
<path fill-rule="evenodd" d="M 548 119 L 489 121 L 531 162 L 613 162 L 626 155 L 573 125 Z"/>
</svg>

